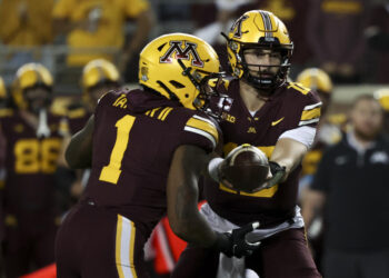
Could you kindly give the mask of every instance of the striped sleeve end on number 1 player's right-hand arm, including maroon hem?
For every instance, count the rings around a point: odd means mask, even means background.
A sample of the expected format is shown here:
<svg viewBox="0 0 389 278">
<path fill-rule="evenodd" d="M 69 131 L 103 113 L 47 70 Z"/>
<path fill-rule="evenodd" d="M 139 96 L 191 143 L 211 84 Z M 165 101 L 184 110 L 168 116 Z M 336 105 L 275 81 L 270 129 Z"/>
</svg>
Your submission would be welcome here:
<svg viewBox="0 0 389 278">
<path fill-rule="evenodd" d="M 183 127 L 183 143 L 198 146 L 207 152 L 215 150 L 220 137 L 218 123 L 205 116 L 193 115 Z"/>
</svg>

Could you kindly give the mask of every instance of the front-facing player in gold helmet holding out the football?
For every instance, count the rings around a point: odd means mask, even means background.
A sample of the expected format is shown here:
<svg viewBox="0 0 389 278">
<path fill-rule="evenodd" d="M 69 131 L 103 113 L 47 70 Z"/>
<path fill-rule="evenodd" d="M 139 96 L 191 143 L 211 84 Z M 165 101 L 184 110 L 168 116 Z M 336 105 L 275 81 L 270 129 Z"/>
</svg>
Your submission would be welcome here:
<svg viewBox="0 0 389 278">
<path fill-rule="evenodd" d="M 320 277 L 307 247 L 297 196 L 300 161 L 313 142 L 321 102 L 309 89 L 287 81 L 293 43 L 273 13 L 243 13 L 226 38 L 233 79 L 227 88 L 229 98 L 213 106 L 227 110 L 220 125 L 222 155 L 242 143 L 256 146 L 268 156 L 272 176 L 253 193 L 220 182 L 207 185 L 208 203 L 201 211 L 213 229 L 223 231 L 260 222 L 260 228 L 248 235 L 261 240 L 260 248 L 246 257 L 246 268 L 260 277 Z M 210 161 L 216 180 L 220 180 L 223 161 Z M 231 277 L 231 264 L 226 260 L 188 246 L 172 277 L 215 277 L 217 272 Z"/>
</svg>

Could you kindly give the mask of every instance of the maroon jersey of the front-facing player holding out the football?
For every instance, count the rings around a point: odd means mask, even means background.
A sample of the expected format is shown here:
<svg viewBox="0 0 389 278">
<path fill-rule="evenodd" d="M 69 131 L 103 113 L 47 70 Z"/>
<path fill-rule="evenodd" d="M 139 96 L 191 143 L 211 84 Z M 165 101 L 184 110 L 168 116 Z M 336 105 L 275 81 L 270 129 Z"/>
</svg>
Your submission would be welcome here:
<svg viewBox="0 0 389 278">
<path fill-rule="evenodd" d="M 242 143 L 261 149 L 270 158 L 278 138 L 298 127 L 316 127 L 321 102 L 309 89 L 298 83 L 286 83 L 253 116 L 239 93 L 239 80 L 233 79 L 225 100 L 223 155 Z M 220 103 L 213 103 L 220 106 Z M 259 220 L 261 227 L 285 221 L 295 214 L 300 168 L 295 169 L 286 182 L 255 193 L 238 192 L 210 182 L 206 197 L 211 208 L 221 217 L 243 225 Z"/>
</svg>

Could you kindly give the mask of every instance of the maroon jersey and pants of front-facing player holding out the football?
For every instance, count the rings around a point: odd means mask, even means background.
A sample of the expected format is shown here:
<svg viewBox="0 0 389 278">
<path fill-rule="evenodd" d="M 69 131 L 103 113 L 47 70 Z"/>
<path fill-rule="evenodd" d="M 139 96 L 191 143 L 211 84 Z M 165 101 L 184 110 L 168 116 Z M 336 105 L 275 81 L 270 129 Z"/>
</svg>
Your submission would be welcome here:
<svg viewBox="0 0 389 278">
<path fill-rule="evenodd" d="M 253 116 L 240 97 L 239 80 L 229 83 L 227 95 L 230 98 L 223 105 L 228 111 L 220 123 L 225 156 L 239 145 L 250 143 L 270 157 L 283 132 L 299 127 L 316 127 L 319 121 L 320 100 L 297 83 L 278 88 Z M 255 193 L 238 192 L 221 183 L 209 182 L 205 191 L 209 206 L 216 212 L 215 221 L 227 219 L 243 226 L 259 220 L 260 229 L 292 224 L 300 169 L 295 169 L 283 183 Z M 189 246 L 172 277 L 215 277 L 218 261 L 219 254 Z M 263 239 L 261 248 L 246 258 L 246 268 L 253 269 L 260 277 L 320 277 L 307 247 L 303 228 L 290 228 Z M 203 269 L 207 269 L 206 274 Z"/>
</svg>

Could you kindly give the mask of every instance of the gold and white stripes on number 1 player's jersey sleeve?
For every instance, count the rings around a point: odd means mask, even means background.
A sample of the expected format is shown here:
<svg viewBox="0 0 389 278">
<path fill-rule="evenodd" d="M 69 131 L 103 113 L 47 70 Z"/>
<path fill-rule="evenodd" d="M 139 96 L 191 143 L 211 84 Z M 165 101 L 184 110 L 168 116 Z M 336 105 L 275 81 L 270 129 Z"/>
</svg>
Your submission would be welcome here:
<svg viewBox="0 0 389 278">
<path fill-rule="evenodd" d="M 213 147 L 216 147 L 219 141 L 219 133 L 216 125 L 210 119 L 198 115 L 193 115 L 189 118 L 183 130 L 206 137 L 212 142 Z"/>
</svg>

